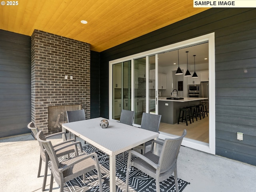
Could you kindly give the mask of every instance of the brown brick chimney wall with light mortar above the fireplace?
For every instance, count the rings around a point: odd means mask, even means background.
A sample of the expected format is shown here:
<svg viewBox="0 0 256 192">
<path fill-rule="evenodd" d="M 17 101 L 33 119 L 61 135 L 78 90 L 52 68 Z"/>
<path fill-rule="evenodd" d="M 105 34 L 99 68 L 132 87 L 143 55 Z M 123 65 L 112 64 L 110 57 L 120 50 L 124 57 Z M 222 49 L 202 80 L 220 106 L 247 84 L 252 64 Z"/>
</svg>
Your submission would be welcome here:
<svg viewBox="0 0 256 192">
<path fill-rule="evenodd" d="M 90 44 L 35 30 L 31 86 L 32 121 L 40 130 L 48 132 L 49 106 L 80 104 L 90 118 Z"/>
</svg>

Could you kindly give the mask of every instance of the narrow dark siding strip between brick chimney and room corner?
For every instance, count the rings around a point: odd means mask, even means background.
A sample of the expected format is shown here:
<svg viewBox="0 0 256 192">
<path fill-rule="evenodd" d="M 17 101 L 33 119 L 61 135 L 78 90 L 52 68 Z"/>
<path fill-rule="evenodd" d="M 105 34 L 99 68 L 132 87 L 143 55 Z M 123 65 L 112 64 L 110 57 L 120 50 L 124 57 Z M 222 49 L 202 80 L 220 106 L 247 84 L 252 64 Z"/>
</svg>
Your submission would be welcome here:
<svg viewBox="0 0 256 192">
<path fill-rule="evenodd" d="M 90 60 L 90 117 L 100 116 L 100 53 L 91 51 Z"/>
</svg>

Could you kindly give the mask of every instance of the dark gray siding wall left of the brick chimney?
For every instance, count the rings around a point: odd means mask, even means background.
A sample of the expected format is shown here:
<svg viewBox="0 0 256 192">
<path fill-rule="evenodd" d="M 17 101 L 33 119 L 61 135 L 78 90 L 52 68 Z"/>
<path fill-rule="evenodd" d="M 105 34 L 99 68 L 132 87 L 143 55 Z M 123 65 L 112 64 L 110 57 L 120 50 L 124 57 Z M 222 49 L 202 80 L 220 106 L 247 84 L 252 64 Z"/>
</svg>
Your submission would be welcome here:
<svg viewBox="0 0 256 192">
<path fill-rule="evenodd" d="M 30 36 L 0 30 L 0 138 L 30 132 Z"/>
</svg>

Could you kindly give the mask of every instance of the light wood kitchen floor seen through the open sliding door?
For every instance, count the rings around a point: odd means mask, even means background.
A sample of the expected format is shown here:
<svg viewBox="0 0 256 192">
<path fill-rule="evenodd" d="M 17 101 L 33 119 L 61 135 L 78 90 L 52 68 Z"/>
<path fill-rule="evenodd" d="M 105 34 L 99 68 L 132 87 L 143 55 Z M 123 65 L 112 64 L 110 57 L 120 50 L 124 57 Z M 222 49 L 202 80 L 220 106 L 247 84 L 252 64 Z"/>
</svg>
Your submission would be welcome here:
<svg viewBox="0 0 256 192">
<path fill-rule="evenodd" d="M 194 123 L 192 122 L 192 124 L 190 124 L 190 122 L 188 122 L 188 126 L 186 126 L 186 122 L 180 122 L 179 124 L 167 124 L 161 122 L 159 127 L 160 132 L 178 136 L 182 135 L 184 129 L 187 130 L 186 138 L 209 143 L 209 114 L 208 117 L 205 116 L 202 120 L 198 118 L 196 121 L 194 118 Z"/>
</svg>

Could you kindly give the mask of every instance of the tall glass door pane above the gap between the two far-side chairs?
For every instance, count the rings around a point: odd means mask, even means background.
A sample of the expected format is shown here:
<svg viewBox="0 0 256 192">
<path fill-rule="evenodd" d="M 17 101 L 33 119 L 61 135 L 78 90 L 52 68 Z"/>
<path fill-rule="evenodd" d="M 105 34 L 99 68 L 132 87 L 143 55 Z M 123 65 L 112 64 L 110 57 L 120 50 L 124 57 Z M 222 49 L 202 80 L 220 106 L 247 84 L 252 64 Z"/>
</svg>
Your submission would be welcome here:
<svg viewBox="0 0 256 192">
<path fill-rule="evenodd" d="M 146 57 L 134 60 L 134 124 L 141 124 L 146 112 Z"/>
</svg>

